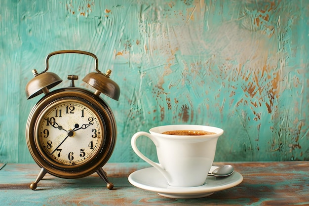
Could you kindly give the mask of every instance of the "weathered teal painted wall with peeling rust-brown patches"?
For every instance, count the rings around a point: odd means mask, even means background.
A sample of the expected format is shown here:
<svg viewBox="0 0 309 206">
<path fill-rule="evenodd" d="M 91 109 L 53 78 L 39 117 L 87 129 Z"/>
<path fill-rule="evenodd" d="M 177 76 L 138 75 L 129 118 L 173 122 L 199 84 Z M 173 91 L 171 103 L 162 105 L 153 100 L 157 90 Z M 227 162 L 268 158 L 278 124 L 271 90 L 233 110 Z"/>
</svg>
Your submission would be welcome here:
<svg viewBox="0 0 309 206">
<path fill-rule="evenodd" d="M 43 95 L 26 100 L 25 86 L 63 49 L 96 54 L 120 86 L 118 102 L 103 97 L 117 122 L 110 162 L 141 161 L 136 131 L 182 123 L 225 130 L 215 161 L 309 160 L 307 0 L 1 0 L 0 162 L 33 162 L 25 125 Z M 49 66 L 56 88 L 71 74 L 87 87 L 94 71 L 78 54 Z"/>
</svg>

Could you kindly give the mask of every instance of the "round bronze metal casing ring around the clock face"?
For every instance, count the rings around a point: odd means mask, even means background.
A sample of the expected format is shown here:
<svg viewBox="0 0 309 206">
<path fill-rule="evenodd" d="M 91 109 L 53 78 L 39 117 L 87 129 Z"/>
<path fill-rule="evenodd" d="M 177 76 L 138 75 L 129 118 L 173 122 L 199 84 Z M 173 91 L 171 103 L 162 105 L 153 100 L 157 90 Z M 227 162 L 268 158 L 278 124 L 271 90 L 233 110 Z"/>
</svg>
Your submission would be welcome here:
<svg viewBox="0 0 309 206">
<path fill-rule="evenodd" d="M 39 125 L 39 118 L 46 111 L 44 108 L 65 100 L 84 103 L 98 115 L 98 121 L 104 130 L 102 131 L 102 139 L 104 140 L 100 144 L 101 148 L 89 161 L 80 165 L 61 165 L 53 161 L 45 155 L 36 140 L 39 139 L 39 131 L 36 128 Z M 61 178 L 81 178 L 94 173 L 110 159 L 116 143 L 116 121 L 109 106 L 91 91 L 79 87 L 60 88 L 46 94 L 33 107 L 26 125 L 26 141 L 35 162 L 48 173 Z"/>
</svg>

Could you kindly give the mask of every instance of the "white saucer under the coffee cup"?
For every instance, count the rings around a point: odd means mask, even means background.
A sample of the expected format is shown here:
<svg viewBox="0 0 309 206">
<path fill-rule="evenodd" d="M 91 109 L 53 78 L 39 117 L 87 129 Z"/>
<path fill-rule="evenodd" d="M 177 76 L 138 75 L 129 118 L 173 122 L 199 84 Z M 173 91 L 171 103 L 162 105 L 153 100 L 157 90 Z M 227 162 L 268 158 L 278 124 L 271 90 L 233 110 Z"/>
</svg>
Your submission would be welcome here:
<svg viewBox="0 0 309 206">
<path fill-rule="evenodd" d="M 217 166 L 212 166 L 212 172 Z M 141 189 L 158 193 L 168 198 L 202 198 L 214 192 L 232 188 L 242 182 L 243 177 L 238 172 L 228 177 L 208 176 L 206 182 L 198 187 L 172 187 L 169 186 L 163 175 L 154 167 L 144 168 L 131 173 L 129 182 Z"/>
</svg>

